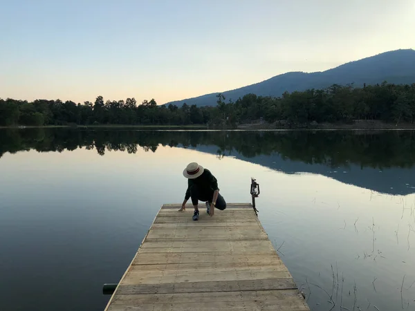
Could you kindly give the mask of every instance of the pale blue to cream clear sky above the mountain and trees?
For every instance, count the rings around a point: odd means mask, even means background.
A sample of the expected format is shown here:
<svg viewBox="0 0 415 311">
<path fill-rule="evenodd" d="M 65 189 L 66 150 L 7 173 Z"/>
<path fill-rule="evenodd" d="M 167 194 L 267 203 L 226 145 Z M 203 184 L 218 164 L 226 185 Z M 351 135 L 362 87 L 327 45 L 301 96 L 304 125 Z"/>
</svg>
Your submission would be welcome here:
<svg viewBox="0 0 415 311">
<path fill-rule="evenodd" d="M 415 0 L 0 0 L 0 97 L 158 104 L 415 48 Z"/>
</svg>

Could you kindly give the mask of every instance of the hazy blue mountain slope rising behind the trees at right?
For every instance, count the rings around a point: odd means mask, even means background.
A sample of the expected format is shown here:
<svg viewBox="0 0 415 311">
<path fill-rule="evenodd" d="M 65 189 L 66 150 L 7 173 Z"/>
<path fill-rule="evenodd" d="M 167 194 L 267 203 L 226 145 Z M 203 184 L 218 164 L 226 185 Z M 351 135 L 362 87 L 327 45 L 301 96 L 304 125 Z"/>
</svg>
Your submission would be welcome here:
<svg viewBox="0 0 415 311">
<path fill-rule="evenodd" d="M 291 93 L 305 91 L 308 88 L 326 88 L 333 84 L 353 83 L 355 86 L 363 86 L 364 83 L 369 85 L 384 81 L 394 84 L 415 83 L 415 50 L 394 50 L 322 72 L 284 73 L 257 84 L 222 93 L 226 100 L 237 100 L 248 93 L 278 97 L 285 91 Z M 187 104 L 196 104 L 196 106 L 215 106 L 217 94 L 219 93 L 168 102 L 167 104 L 181 106 L 186 102 Z"/>
</svg>

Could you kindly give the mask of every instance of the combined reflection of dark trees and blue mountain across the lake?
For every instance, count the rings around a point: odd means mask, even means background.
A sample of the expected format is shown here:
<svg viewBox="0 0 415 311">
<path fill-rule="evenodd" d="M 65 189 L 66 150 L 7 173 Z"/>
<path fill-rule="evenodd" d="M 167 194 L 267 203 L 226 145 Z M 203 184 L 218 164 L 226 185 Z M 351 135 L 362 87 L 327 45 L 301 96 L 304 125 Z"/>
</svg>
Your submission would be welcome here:
<svg viewBox="0 0 415 311">
<path fill-rule="evenodd" d="M 62 152 L 86 148 L 102 156 L 110 150 L 156 152 L 160 144 L 232 155 L 283 173 L 317 173 L 386 194 L 415 193 L 412 131 L 0 130 L 0 158 L 6 152 L 30 149 Z"/>
</svg>

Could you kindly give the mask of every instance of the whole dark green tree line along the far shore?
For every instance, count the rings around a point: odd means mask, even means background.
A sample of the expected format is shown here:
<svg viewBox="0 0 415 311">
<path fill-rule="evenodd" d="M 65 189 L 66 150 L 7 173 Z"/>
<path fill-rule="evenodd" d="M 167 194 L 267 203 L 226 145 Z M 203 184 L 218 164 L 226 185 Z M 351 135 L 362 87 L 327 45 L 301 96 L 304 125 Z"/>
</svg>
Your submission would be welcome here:
<svg viewBox="0 0 415 311">
<path fill-rule="evenodd" d="M 415 122 L 415 84 L 340 86 L 284 93 L 281 97 L 247 94 L 232 101 L 217 95 L 216 106 L 194 104 L 158 105 L 134 98 L 104 102 L 98 96 L 94 103 L 72 101 L 0 99 L 0 126 L 13 125 L 187 125 L 237 126 L 256 120 L 280 122 L 286 126 L 320 122 Z"/>
</svg>

